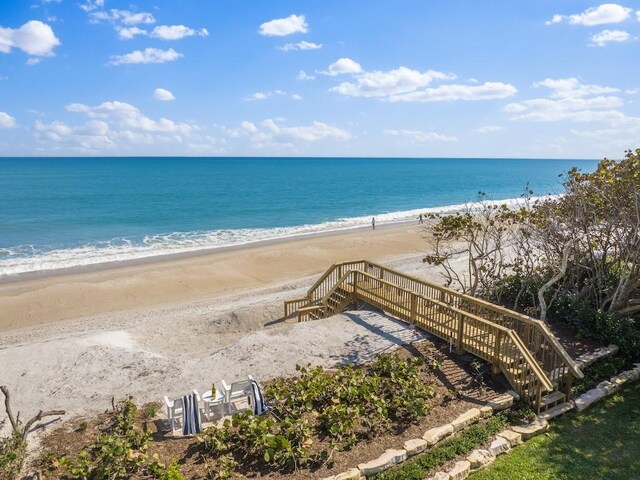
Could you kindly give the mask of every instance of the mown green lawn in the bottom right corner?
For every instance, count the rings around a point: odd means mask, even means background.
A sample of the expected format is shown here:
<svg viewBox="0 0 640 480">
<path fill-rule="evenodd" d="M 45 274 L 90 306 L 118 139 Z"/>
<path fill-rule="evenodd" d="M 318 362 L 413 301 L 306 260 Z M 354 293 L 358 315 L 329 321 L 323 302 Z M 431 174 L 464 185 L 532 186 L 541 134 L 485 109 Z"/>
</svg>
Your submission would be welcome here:
<svg viewBox="0 0 640 480">
<path fill-rule="evenodd" d="M 640 383 L 504 455 L 470 480 L 640 479 Z"/>
</svg>

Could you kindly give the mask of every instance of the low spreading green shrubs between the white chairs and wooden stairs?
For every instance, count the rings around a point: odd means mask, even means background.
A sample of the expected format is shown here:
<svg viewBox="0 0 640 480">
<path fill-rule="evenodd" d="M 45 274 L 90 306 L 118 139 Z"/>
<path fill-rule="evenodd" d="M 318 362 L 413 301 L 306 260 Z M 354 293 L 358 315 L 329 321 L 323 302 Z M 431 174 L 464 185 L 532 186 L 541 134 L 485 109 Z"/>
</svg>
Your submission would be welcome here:
<svg viewBox="0 0 640 480">
<path fill-rule="evenodd" d="M 299 377 L 265 389 L 270 413 L 240 413 L 206 429 L 202 451 L 219 478 L 232 476 L 239 464 L 292 471 L 330 462 L 335 450 L 425 415 L 434 391 L 421 377 L 424 368 L 421 360 L 396 355 L 335 373 L 299 366 Z"/>
</svg>

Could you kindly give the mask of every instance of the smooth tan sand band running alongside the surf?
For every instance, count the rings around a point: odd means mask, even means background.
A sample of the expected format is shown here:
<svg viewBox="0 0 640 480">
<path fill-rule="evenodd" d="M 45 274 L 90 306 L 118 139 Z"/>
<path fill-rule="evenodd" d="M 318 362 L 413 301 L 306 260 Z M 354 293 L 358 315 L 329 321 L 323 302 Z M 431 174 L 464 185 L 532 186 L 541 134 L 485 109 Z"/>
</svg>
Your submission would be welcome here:
<svg viewBox="0 0 640 480">
<path fill-rule="evenodd" d="M 424 225 L 404 222 L 6 277 L 0 281 L 0 332 L 250 295 L 252 289 L 320 274 L 339 261 L 415 256 L 418 262 L 424 234 Z"/>
</svg>

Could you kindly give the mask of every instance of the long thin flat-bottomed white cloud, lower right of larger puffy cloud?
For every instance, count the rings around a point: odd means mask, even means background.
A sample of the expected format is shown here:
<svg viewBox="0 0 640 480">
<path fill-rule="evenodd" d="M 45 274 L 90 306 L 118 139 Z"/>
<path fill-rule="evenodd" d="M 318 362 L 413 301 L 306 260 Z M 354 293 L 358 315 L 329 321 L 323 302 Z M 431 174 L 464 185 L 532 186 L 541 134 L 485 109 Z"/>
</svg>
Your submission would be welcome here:
<svg viewBox="0 0 640 480">
<path fill-rule="evenodd" d="M 518 89 L 509 83 L 485 82 L 482 85 L 447 84 L 388 97 L 390 102 L 451 102 L 457 100 L 495 100 L 515 95 Z"/>
</svg>

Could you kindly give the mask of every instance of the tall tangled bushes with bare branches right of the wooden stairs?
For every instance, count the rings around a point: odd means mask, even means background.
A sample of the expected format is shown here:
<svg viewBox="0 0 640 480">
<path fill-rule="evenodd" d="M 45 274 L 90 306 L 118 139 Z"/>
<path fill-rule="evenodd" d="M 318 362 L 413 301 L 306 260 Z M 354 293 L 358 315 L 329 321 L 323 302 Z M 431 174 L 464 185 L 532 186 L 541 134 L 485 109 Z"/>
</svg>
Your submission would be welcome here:
<svg viewBox="0 0 640 480">
<path fill-rule="evenodd" d="M 480 202 L 436 216 L 426 263 L 446 282 L 640 356 L 640 149 L 572 169 L 562 195 L 510 208 Z M 451 240 L 456 242 L 451 243 Z M 453 261 L 465 256 L 465 273 Z"/>
</svg>

